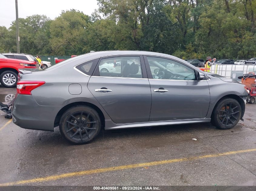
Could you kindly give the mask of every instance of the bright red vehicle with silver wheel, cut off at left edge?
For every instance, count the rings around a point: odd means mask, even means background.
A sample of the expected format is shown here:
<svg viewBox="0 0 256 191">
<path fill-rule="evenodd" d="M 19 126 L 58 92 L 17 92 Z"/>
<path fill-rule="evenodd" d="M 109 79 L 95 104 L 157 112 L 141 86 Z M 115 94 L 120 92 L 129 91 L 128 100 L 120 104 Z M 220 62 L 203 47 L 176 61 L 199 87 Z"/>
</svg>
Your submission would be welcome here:
<svg viewBox="0 0 256 191">
<path fill-rule="evenodd" d="M 37 68 L 34 62 L 10 59 L 0 54 L 0 82 L 6 88 L 16 87 L 18 82 L 18 69 Z"/>
</svg>

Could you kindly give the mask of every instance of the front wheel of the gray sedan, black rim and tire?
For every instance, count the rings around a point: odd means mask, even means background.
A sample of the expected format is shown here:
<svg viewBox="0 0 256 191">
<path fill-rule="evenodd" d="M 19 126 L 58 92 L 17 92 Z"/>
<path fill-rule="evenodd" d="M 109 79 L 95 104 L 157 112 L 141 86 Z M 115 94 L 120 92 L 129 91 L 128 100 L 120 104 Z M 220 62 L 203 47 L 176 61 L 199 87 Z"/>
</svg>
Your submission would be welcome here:
<svg viewBox="0 0 256 191">
<path fill-rule="evenodd" d="M 239 122 L 241 114 L 242 109 L 237 100 L 224 98 L 216 104 L 211 123 L 218 129 L 231 129 Z"/>
</svg>

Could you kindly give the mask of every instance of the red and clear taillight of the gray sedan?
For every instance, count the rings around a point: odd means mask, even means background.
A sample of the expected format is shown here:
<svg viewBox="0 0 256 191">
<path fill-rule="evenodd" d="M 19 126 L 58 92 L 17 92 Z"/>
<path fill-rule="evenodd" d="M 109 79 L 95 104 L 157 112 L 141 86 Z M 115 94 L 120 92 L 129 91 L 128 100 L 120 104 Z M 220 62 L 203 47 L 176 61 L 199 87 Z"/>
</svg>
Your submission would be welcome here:
<svg viewBox="0 0 256 191">
<path fill-rule="evenodd" d="M 32 95 L 31 91 L 45 84 L 45 81 L 18 81 L 17 93 L 24 95 Z"/>
</svg>

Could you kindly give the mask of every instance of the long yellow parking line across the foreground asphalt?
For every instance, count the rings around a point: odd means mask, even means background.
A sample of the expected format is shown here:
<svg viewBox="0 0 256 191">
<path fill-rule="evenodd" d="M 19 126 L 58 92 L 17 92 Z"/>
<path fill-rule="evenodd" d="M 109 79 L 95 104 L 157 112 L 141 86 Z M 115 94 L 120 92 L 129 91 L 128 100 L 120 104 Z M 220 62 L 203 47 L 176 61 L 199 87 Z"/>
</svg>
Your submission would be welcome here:
<svg viewBox="0 0 256 191">
<path fill-rule="evenodd" d="M 171 160 L 165 160 L 165 161 L 154 161 L 154 162 L 147 162 L 147 163 L 128 164 L 128 165 L 116 166 L 116 167 L 99 168 L 99 169 L 93 169 L 93 170 L 84 170 L 79 172 L 64 173 L 64 174 L 53 175 L 53 176 L 42 177 L 42 178 L 34 178 L 30 180 L 21 180 L 17 182 L 3 183 L 3 184 L 0 184 L 0 186 L 11 186 L 11 185 L 17 185 L 17 184 L 44 182 L 44 181 L 50 181 L 50 180 L 58 180 L 58 179 L 67 178 L 67 177 L 82 176 L 82 175 L 89 175 L 89 174 L 95 174 L 95 173 L 105 173 L 110 171 L 133 169 L 133 168 L 148 167 L 148 166 L 156 166 L 160 164 L 170 164 L 175 162 L 196 160 L 201 158 L 219 157 L 224 155 L 238 154 L 238 153 L 245 153 L 245 152 L 252 152 L 252 151 L 256 151 L 256 148 L 240 150 L 240 151 L 230 151 L 230 152 L 224 152 L 219 154 L 208 154 L 208 155 L 190 157 L 190 158 L 179 158 L 179 159 L 171 159 Z"/>
</svg>

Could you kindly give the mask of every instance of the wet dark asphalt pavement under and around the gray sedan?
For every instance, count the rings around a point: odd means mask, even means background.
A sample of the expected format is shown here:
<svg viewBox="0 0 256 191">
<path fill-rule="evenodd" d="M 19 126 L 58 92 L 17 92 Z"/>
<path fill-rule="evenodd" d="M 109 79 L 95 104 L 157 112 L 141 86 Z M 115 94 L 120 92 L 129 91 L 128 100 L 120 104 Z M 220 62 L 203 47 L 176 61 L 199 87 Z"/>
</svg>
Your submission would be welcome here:
<svg viewBox="0 0 256 191">
<path fill-rule="evenodd" d="M 11 94 L 15 88 L 0 86 L 1 102 Z M 255 108 L 247 103 L 244 122 L 229 130 L 210 123 L 102 130 L 87 145 L 69 144 L 58 127 L 22 129 L 0 111 L 0 186 L 256 186 Z"/>
</svg>

